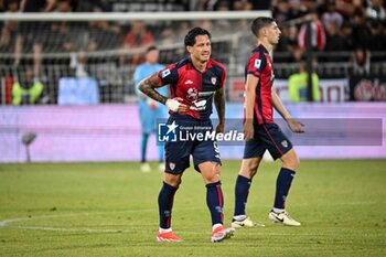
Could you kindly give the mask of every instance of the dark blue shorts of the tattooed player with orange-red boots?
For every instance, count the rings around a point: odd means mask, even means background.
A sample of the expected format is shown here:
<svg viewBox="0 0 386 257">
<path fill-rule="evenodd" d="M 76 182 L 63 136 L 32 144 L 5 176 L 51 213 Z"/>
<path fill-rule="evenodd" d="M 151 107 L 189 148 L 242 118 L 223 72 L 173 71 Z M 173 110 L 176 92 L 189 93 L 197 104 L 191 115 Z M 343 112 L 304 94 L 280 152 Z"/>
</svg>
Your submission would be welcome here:
<svg viewBox="0 0 386 257">
<path fill-rule="evenodd" d="M 175 121 L 178 131 L 185 131 L 183 128 L 194 129 L 194 133 L 205 135 L 213 130 L 212 121 L 195 120 L 190 116 L 173 115 L 169 118 L 168 125 Z M 181 174 L 190 167 L 190 156 L 193 157 L 194 169 L 200 172 L 199 164 L 210 161 L 221 164 L 221 157 L 215 140 L 176 140 L 165 142 L 165 172 Z"/>
</svg>

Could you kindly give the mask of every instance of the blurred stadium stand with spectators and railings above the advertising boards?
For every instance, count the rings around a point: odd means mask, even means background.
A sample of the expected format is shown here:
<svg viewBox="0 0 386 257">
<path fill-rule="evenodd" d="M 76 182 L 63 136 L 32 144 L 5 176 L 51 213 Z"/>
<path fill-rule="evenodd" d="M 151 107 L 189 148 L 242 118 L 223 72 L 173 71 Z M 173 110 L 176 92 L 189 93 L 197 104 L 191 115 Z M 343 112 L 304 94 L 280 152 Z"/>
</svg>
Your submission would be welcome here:
<svg viewBox="0 0 386 257">
<path fill-rule="evenodd" d="M 41 7 L 23 7 L 24 0 L 2 0 L 3 14 L 30 12 L 139 12 L 139 11 L 217 11 L 257 10 L 268 7 L 282 29 L 280 44 L 274 53 L 276 77 L 288 78 L 304 57 L 304 17 L 314 25 L 314 57 L 319 77 L 347 77 L 357 69 L 354 53 L 368 53 L 368 73 L 386 74 L 385 1 L 66 1 L 51 0 Z M 25 3 L 24 3 L 25 4 Z M 23 9 L 24 8 L 24 9 Z M 213 56 L 225 63 L 229 77 L 243 76 L 244 62 L 250 51 L 248 20 L 89 20 L 21 21 L 1 19 L 0 76 L 18 81 L 30 66 L 45 85 L 47 97 L 40 104 L 57 104 L 58 82 L 63 77 L 89 76 L 99 85 L 99 103 L 135 101 L 132 73 L 143 50 L 156 43 L 160 62 L 170 63 L 184 54 L 182 35 L 193 25 L 213 33 Z M 136 26 L 138 26 L 136 29 Z M 147 31 L 147 39 L 132 34 Z M 130 35 L 131 33 L 131 35 Z M 75 61 L 76 62 L 75 62 Z M 355 69 L 355 71 L 356 71 Z M 81 73 L 79 73 L 81 71 Z M 6 93 L 1 90 L 1 104 Z"/>
</svg>

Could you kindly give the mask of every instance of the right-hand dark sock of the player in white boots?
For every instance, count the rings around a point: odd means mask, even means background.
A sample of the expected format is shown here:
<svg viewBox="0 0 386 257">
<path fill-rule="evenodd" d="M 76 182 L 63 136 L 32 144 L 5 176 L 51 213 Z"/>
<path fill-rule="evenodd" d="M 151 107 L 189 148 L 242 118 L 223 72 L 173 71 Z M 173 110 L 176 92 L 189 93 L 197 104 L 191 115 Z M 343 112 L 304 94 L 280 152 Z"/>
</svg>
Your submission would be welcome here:
<svg viewBox="0 0 386 257">
<path fill-rule="evenodd" d="M 281 168 L 278 179 L 276 180 L 276 196 L 274 210 L 285 210 L 288 192 L 291 188 L 296 172 L 286 168 Z"/>
</svg>

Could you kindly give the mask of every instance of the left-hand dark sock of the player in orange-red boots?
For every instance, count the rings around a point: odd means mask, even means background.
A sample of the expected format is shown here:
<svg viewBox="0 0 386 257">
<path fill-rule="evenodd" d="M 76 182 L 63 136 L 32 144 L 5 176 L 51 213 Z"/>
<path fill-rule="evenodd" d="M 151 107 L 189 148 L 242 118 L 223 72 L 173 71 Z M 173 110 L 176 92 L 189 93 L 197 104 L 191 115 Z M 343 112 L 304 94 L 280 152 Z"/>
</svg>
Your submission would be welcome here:
<svg viewBox="0 0 386 257">
<path fill-rule="evenodd" d="M 163 186 L 158 195 L 158 207 L 160 212 L 160 227 L 170 228 L 174 194 L 178 189 L 163 182 Z"/>
</svg>

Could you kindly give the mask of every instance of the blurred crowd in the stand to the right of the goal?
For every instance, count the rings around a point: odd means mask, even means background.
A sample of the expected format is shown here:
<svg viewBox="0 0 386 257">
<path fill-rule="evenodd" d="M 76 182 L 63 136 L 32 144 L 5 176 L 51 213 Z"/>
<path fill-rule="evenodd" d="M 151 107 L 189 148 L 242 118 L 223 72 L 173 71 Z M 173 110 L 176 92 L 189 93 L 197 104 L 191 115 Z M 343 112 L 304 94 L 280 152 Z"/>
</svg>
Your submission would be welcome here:
<svg viewBox="0 0 386 257">
<path fill-rule="evenodd" d="M 385 2 L 382 0 L 285 1 L 272 6 L 282 28 L 278 52 L 290 53 L 286 62 L 300 61 L 305 46 L 305 28 L 311 21 L 311 43 L 315 52 L 332 53 L 319 61 L 339 62 L 340 52 L 352 52 L 357 73 L 368 73 L 372 52 L 385 52 Z M 291 22 L 298 21 L 298 22 Z M 385 56 L 379 56 L 385 61 Z"/>
</svg>

